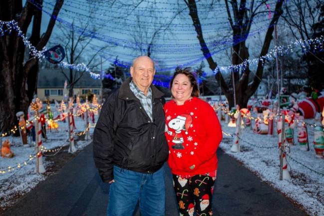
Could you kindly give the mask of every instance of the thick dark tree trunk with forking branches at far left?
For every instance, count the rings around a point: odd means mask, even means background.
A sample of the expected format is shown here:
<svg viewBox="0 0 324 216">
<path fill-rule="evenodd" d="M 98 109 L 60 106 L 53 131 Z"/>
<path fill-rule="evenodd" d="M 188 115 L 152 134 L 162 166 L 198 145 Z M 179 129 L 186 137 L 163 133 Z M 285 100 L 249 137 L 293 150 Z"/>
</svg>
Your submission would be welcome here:
<svg viewBox="0 0 324 216">
<path fill-rule="evenodd" d="M 31 27 L 28 40 L 37 50 L 41 50 L 52 33 L 63 0 L 56 0 L 51 19 L 41 34 L 42 0 L 1 0 L 0 20 L 15 20 L 26 35 Z M 28 105 L 37 87 L 38 59 L 26 54 L 22 38 L 14 31 L 0 36 L 0 131 L 9 131 L 16 121 L 17 111 L 27 112 Z M 27 59 L 27 60 L 24 60 Z"/>
</svg>

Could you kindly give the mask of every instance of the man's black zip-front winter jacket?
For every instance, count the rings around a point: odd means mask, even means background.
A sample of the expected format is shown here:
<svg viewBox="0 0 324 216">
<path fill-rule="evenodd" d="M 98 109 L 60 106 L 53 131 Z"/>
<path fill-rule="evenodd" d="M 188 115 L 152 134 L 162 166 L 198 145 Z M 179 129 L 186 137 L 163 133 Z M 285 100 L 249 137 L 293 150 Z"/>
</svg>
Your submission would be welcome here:
<svg viewBox="0 0 324 216">
<path fill-rule="evenodd" d="M 163 93 L 152 89 L 153 121 L 126 79 L 106 99 L 93 133 L 93 157 L 104 182 L 113 179 L 113 165 L 152 173 L 160 169 L 169 155 L 164 136 Z"/>
</svg>

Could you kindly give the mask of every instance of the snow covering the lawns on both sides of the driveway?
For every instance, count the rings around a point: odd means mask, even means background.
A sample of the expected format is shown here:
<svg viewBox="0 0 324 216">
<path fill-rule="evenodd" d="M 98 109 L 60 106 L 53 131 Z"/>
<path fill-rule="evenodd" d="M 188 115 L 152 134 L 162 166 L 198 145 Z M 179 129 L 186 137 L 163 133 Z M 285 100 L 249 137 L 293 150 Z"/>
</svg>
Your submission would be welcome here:
<svg viewBox="0 0 324 216">
<path fill-rule="evenodd" d="M 54 107 L 52 107 L 54 110 Z M 55 114 L 54 114 L 55 116 Z M 97 117 L 97 116 L 96 116 Z M 76 132 L 84 131 L 85 123 L 80 117 L 75 117 Z M 309 123 L 314 123 L 308 120 Z M 222 122 L 222 128 L 225 132 L 233 134 L 234 127 L 228 127 Z M 310 134 L 310 143 L 313 143 L 314 128 L 308 127 Z M 90 128 L 90 133 L 93 128 Z M 57 149 L 60 146 L 68 144 L 67 122 L 59 122 L 58 131 L 47 130 L 48 140 L 43 145 L 48 149 Z M 34 155 L 34 147 L 22 147 L 20 137 L 4 137 L 11 142 L 11 150 L 15 156 L 13 158 L 0 157 L 0 170 L 7 170 L 8 166 L 14 167 L 18 163 L 27 165 L 16 168 L 13 171 L 0 174 L 0 207 L 12 205 L 16 201 L 16 196 L 21 196 L 33 189 L 46 176 L 36 174 L 35 160 L 28 160 L 29 155 Z M 3 140 L 3 139 L 2 139 Z M 243 141 L 244 140 L 244 141 Z M 295 132 L 297 141 L 297 132 Z M 88 141 L 77 141 L 76 147 L 82 149 Z M 28 137 L 28 142 L 30 139 Z M 244 163 L 249 169 L 257 173 L 262 180 L 268 182 L 273 187 L 284 192 L 287 196 L 295 200 L 311 215 L 324 215 L 324 176 L 306 168 L 310 167 L 320 173 L 324 173 L 324 161 L 315 157 L 313 144 L 310 144 L 310 151 L 302 151 L 298 145 L 291 146 L 289 155 L 299 163 L 288 157 L 289 168 L 291 170 L 292 180 L 279 180 L 279 150 L 277 135 L 261 135 L 254 133 L 250 128 L 242 129 L 241 152 L 232 153 L 230 148 L 233 143 L 233 137 L 224 135 L 220 147 L 226 153 L 234 156 Z M 273 148 L 264 148 L 273 147 Z M 48 153 L 53 154 L 53 153 Z M 55 156 L 55 155 L 54 155 Z M 45 168 L 48 164 L 44 160 Z M 305 166 L 303 166 L 305 165 Z"/>
</svg>

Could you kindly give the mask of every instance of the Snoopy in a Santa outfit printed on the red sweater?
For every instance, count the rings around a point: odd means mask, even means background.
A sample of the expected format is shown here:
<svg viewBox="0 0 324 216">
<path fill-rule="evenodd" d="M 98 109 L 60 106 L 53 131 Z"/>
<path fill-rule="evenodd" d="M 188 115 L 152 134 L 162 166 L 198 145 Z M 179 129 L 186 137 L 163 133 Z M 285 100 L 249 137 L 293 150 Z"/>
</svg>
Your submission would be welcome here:
<svg viewBox="0 0 324 216">
<path fill-rule="evenodd" d="M 183 146 L 184 139 L 182 132 L 185 131 L 185 134 L 188 134 L 187 130 L 189 129 L 191 122 L 192 117 L 190 114 L 181 114 L 171 119 L 168 123 L 168 126 L 166 125 L 166 131 L 168 132 L 168 134 L 173 135 L 172 142 L 174 145 L 171 146 L 173 149 L 185 148 Z M 174 129 L 174 132 L 170 131 L 168 127 Z"/>
</svg>

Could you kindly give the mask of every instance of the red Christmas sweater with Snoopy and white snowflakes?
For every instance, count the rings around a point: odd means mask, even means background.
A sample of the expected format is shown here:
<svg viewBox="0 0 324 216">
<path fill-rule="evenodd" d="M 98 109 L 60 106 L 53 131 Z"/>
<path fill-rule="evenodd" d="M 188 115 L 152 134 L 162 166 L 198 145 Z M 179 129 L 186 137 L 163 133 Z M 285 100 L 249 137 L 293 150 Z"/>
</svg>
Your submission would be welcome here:
<svg viewBox="0 0 324 216">
<path fill-rule="evenodd" d="M 183 105 L 174 100 L 164 105 L 168 164 L 173 174 L 205 174 L 217 169 L 216 150 L 222 128 L 211 105 L 193 97 Z"/>
</svg>

